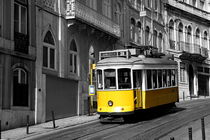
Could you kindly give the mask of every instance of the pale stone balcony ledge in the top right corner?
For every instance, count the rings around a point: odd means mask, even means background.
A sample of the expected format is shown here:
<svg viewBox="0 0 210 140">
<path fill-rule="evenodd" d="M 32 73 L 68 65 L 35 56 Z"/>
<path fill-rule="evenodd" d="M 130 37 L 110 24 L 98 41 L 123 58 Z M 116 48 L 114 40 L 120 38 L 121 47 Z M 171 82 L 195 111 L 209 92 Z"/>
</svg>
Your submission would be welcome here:
<svg viewBox="0 0 210 140">
<path fill-rule="evenodd" d="M 195 16 L 198 16 L 202 19 L 210 20 L 210 13 L 203 11 L 199 8 L 196 8 L 192 5 L 189 5 L 183 1 L 177 1 L 177 0 L 168 0 L 168 4 L 172 7 L 176 7 L 180 10 L 184 10 L 190 14 L 193 14 Z"/>
</svg>

